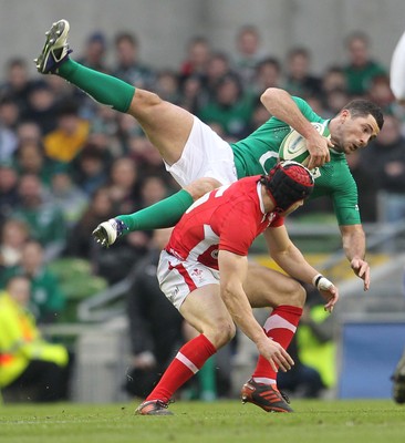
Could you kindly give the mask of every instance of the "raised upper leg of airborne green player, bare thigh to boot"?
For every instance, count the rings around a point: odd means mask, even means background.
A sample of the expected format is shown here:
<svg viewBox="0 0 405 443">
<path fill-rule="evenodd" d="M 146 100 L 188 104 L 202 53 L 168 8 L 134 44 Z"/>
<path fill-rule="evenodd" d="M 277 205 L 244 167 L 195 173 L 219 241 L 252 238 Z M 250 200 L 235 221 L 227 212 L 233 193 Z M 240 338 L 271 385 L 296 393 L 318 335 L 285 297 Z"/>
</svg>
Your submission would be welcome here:
<svg viewBox="0 0 405 443">
<path fill-rule="evenodd" d="M 94 71 L 70 59 L 69 22 L 60 20 L 46 33 L 35 60 L 43 74 L 54 73 L 86 92 L 98 103 L 133 115 L 168 165 L 176 163 L 191 132 L 194 116 L 158 95 Z"/>
</svg>

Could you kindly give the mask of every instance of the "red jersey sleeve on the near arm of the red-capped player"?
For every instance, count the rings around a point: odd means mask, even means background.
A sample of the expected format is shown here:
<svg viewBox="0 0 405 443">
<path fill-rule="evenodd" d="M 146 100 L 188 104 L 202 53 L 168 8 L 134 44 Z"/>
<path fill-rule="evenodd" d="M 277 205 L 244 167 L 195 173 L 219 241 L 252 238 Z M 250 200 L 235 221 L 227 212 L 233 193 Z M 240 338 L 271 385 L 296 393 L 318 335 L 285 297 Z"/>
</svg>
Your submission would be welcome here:
<svg viewBox="0 0 405 443">
<path fill-rule="evenodd" d="M 219 250 L 247 256 L 258 235 L 256 214 L 257 208 L 252 202 L 233 206 L 220 226 Z"/>
</svg>

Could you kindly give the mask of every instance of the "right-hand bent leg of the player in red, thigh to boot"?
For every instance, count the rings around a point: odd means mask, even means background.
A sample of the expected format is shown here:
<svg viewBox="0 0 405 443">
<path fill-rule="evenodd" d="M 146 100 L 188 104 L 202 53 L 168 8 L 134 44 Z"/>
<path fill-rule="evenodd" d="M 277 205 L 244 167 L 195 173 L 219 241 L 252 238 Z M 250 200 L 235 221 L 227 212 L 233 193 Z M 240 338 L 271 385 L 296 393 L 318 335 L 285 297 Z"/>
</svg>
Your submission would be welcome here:
<svg viewBox="0 0 405 443">
<path fill-rule="evenodd" d="M 295 333 L 305 301 L 305 291 L 293 279 L 257 264 L 249 264 L 243 286 L 253 308 L 272 307 L 263 324 L 268 337 L 287 349 Z M 242 402 L 251 402 L 267 412 L 291 412 L 287 399 L 278 391 L 277 372 L 259 356 L 251 379 L 241 391 Z"/>
</svg>

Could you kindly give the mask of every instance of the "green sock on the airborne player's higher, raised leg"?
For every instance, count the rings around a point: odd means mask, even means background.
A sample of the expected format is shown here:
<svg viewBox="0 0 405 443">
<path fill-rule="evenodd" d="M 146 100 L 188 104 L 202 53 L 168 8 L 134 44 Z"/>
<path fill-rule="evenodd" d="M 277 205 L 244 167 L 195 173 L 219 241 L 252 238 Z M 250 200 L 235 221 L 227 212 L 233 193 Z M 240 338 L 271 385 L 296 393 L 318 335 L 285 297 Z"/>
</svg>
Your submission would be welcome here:
<svg viewBox="0 0 405 443">
<path fill-rule="evenodd" d="M 68 59 L 59 68 L 58 74 L 73 83 L 96 102 L 126 113 L 135 87 L 112 75 L 103 74 Z"/>
</svg>

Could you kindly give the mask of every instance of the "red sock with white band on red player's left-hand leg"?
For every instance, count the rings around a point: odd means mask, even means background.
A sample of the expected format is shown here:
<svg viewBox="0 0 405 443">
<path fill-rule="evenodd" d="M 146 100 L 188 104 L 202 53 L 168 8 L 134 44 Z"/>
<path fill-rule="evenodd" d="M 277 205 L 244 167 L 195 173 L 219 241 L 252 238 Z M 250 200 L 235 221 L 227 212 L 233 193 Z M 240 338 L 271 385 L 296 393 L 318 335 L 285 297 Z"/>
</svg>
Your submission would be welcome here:
<svg viewBox="0 0 405 443">
<path fill-rule="evenodd" d="M 162 400 L 168 402 L 172 395 L 198 372 L 204 363 L 216 352 L 217 349 L 202 333 L 188 341 L 177 352 L 177 356 L 146 401 Z"/>
</svg>

